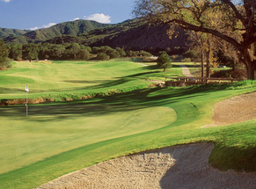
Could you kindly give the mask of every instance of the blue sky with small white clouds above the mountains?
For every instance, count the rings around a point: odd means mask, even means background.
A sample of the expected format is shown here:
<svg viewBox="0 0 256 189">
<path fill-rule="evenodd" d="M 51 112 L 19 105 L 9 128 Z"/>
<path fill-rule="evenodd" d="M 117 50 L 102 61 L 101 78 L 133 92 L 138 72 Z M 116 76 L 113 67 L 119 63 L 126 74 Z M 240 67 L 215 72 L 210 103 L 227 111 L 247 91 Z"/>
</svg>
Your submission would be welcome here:
<svg viewBox="0 0 256 189">
<path fill-rule="evenodd" d="M 0 0 L 0 27 L 31 29 L 65 21 L 120 23 L 132 18 L 133 0 Z"/>
</svg>

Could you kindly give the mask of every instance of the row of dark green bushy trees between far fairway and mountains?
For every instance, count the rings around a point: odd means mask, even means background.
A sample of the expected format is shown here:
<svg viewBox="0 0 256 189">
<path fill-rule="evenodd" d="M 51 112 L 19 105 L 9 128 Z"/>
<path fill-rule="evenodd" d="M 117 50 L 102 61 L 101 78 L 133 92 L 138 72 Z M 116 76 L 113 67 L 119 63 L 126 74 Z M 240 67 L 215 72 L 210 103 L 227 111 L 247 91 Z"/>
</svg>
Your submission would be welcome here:
<svg viewBox="0 0 256 189">
<path fill-rule="evenodd" d="M 117 47 L 108 46 L 89 47 L 83 44 L 6 44 L 8 57 L 14 60 L 108 60 L 118 57 L 149 57 L 151 53 L 145 51 L 125 51 Z"/>
</svg>

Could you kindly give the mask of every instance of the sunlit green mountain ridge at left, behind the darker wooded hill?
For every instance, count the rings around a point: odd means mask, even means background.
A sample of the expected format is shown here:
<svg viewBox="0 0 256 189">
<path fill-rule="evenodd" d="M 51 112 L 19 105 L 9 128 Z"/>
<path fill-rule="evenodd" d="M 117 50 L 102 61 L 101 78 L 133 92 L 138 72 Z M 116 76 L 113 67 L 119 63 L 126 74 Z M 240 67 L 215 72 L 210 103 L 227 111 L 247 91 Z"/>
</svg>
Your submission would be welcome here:
<svg viewBox="0 0 256 189">
<path fill-rule="evenodd" d="M 4 38 L 5 43 L 39 43 L 45 40 L 52 39 L 63 34 L 76 36 L 99 27 L 107 27 L 108 24 L 101 24 L 96 21 L 76 20 L 53 25 L 49 28 L 29 31 L 22 36 L 13 37 L 9 35 Z M 7 34 L 5 34 L 7 35 Z"/>
</svg>

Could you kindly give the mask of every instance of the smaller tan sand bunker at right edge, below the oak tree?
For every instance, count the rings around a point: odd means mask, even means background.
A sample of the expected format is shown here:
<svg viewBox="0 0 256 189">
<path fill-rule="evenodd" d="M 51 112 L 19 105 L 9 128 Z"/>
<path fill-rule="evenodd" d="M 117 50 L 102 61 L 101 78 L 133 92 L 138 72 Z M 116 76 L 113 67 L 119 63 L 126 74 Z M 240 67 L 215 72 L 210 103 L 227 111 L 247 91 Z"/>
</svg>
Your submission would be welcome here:
<svg viewBox="0 0 256 189">
<path fill-rule="evenodd" d="M 256 92 L 218 102 L 213 109 L 213 123 L 202 127 L 224 126 L 256 119 Z"/>
</svg>

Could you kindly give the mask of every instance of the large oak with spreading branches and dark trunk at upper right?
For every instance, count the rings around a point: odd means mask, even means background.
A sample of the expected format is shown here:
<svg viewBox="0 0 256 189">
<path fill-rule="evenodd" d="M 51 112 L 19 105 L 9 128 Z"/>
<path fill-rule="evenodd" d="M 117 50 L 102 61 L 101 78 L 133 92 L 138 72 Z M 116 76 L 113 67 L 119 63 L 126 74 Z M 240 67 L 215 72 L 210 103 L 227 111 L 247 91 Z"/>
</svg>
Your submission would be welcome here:
<svg viewBox="0 0 256 189">
<path fill-rule="evenodd" d="M 227 41 L 238 51 L 248 79 L 256 70 L 256 0 L 137 0 L 136 16 L 177 24 Z"/>
</svg>

